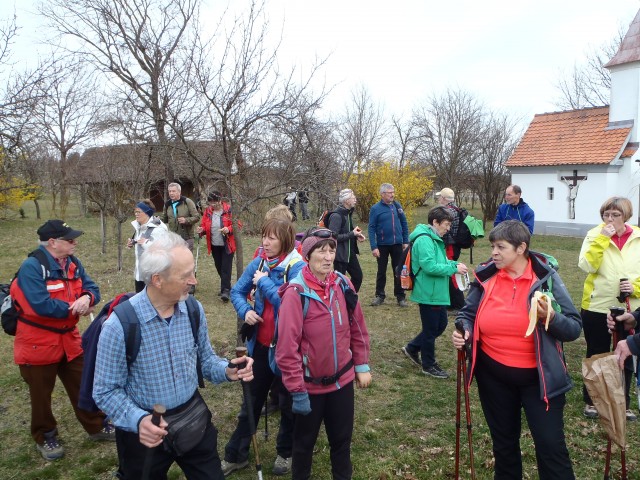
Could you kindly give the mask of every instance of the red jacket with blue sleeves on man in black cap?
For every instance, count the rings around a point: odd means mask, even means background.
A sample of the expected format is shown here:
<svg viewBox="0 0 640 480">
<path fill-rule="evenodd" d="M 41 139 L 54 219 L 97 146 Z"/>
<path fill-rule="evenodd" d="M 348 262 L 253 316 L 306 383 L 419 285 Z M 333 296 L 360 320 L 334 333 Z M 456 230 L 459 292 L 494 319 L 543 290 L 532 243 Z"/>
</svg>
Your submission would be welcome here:
<svg viewBox="0 0 640 480">
<path fill-rule="evenodd" d="M 56 333 L 19 321 L 13 344 L 13 358 L 18 365 L 49 365 L 60 362 L 65 356 L 71 361 L 82 355 L 80 333 L 76 328 L 79 317 L 70 313 L 69 304 L 86 293 L 91 295 L 91 305 L 100 300 L 98 286 L 85 273 L 81 263 L 76 265 L 68 260 L 67 272 L 63 272 L 48 252 L 47 255 L 50 263 L 47 279 L 42 277 L 40 262 L 28 258 L 11 284 L 11 298 L 15 299 L 20 316 L 26 320 L 72 330 Z"/>
</svg>

